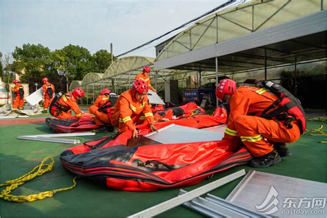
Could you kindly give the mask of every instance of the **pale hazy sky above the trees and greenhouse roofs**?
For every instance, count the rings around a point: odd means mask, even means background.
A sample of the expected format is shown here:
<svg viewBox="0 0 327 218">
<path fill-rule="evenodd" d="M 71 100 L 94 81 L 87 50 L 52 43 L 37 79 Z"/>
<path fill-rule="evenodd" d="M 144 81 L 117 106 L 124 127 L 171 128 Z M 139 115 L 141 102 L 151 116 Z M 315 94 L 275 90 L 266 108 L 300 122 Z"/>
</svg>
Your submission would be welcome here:
<svg viewBox="0 0 327 218">
<path fill-rule="evenodd" d="M 9 54 L 24 43 L 40 43 L 50 50 L 82 46 L 94 54 L 102 49 L 110 52 L 112 43 L 117 56 L 226 1 L 0 0 L 0 52 Z M 125 56 L 155 57 L 155 45 L 164 39 Z"/>
</svg>

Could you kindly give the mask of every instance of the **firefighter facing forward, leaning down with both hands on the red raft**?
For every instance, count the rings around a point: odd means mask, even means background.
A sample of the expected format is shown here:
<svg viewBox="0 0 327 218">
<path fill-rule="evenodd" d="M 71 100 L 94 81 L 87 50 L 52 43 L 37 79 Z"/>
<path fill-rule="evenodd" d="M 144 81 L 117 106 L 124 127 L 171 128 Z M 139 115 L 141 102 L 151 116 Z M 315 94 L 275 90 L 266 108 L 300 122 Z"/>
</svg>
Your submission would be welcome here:
<svg viewBox="0 0 327 218">
<path fill-rule="evenodd" d="M 132 89 L 121 93 L 115 106 L 111 108 L 112 126 L 118 127 L 119 132 L 130 129 L 132 137 L 139 136 L 135 123 L 148 123 L 150 130 L 157 131 L 147 93 L 148 84 L 143 80 L 136 80 Z"/>
</svg>

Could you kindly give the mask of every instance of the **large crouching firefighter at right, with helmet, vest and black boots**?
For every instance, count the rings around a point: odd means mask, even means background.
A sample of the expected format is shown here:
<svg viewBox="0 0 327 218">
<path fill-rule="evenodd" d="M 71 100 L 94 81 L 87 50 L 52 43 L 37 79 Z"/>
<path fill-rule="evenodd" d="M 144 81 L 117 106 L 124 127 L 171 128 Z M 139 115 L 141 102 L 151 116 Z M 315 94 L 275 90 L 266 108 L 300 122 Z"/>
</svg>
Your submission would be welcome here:
<svg viewBox="0 0 327 218">
<path fill-rule="evenodd" d="M 230 104 L 227 128 L 222 139 L 235 150 L 242 143 L 253 156 L 249 166 L 266 168 L 291 155 L 293 143 L 306 130 L 301 103 L 288 90 L 271 81 L 262 87 L 241 86 L 223 79 L 216 90 L 219 101 Z"/>
</svg>

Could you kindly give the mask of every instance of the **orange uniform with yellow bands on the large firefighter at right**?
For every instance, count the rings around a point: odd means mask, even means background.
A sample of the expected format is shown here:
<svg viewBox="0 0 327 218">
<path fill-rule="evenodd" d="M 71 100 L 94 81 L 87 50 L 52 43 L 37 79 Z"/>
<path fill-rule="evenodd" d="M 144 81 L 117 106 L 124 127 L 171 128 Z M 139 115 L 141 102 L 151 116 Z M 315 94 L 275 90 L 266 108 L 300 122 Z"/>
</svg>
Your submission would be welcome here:
<svg viewBox="0 0 327 218">
<path fill-rule="evenodd" d="M 230 144 L 230 150 L 244 143 L 253 157 L 261 157 L 273 151 L 273 142 L 291 143 L 299 139 L 298 121 L 293 121 L 293 128 L 288 128 L 284 121 L 257 117 L 277 99 L 264 88 L 237 89 L 230 98 L 230 115 L 223 139 Z"/>
</svg>

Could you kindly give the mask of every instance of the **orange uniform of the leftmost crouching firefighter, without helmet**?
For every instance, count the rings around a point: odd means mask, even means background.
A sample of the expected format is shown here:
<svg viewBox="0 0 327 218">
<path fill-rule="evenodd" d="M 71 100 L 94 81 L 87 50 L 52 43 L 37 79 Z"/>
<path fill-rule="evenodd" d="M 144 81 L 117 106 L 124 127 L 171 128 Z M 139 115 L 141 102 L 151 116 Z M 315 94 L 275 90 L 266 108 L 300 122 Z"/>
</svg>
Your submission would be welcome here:
<svg viewBox="0 0 327 218">
<path fill-rule="evenodd" d="M 57 117 L 58 119 L 67 119 L 72 117 L 72 111 L 74 111 L 76 119 L 81 118 L 81 110 L 77 105 L 77 99 L 72 96 L 72 92 L 68 92 L 65 95 L 62 95 L 58 103 L 59 106 L 66 111 L 56 110 L 54 112 L 54 117 Z"/>
</svg>

